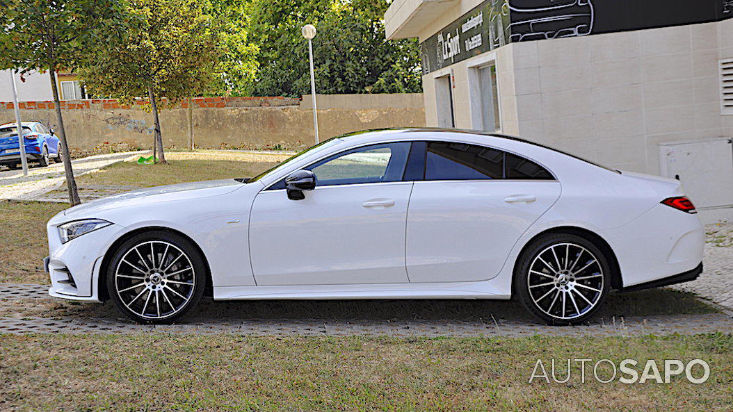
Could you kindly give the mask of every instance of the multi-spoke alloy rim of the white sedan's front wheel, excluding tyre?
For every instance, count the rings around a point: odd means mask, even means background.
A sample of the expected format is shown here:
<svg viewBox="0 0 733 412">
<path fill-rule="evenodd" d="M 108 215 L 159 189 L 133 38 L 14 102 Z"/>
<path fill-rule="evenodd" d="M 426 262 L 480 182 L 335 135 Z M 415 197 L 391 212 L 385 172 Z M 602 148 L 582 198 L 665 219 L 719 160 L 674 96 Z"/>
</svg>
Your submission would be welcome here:
<svg viewBox="0 0 733 412">
<path fill-rule="evenodd" d="M 175 315 L 194 297 L 191 258 L 167 241 L 143 241 L 117 264 L 114 286 L 122 304 L 141 318 Z"/>
</svg>

